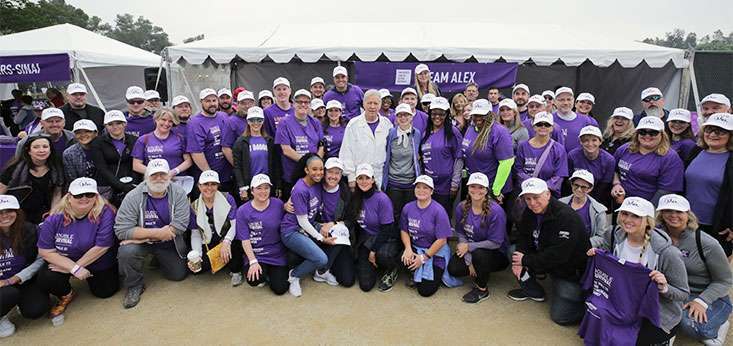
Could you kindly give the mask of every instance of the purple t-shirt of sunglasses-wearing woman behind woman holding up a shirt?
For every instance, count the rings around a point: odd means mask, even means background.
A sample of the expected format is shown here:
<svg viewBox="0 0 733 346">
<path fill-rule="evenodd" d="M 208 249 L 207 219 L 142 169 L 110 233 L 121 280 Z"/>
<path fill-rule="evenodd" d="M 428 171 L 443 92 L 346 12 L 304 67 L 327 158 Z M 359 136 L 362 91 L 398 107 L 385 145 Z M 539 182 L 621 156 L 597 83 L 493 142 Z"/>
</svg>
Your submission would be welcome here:
<svg viewBox="0 0 733 346">
<path fill-rule="evenodd" d="M 622 145 L 614 154 L 626 197 L 651 200 L 657 190 L 682 191 L 684 169 L 682 160 L 674 150 L 669 150 L 664 156 L 656 153 L 642 155 L 632 153 L 630 144 Z"/>
</svg>

